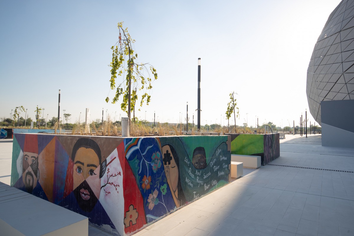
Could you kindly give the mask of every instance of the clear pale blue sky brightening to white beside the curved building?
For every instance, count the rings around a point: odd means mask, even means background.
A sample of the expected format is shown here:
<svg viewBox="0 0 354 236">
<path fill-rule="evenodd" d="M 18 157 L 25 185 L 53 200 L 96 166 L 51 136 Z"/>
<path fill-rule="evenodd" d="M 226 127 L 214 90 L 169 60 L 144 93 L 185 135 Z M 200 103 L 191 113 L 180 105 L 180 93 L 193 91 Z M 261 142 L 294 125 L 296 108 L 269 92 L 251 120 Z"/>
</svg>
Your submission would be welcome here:
<svg viewBox="0 0 354 236">
<path fill-rule="evenodd" d="M 299 123 L 308 111 L 306 76 L 315 42 L 339 0 L 254 1 L 0 1 L 0 117 L 24 106 L 35 119 L 91 110 L 91 120 L 127 117 L 110 91 L 110 47 L 117 23 L 136 40 L 138 62 L 158 73 L 150 104 L 136 116 L 176 123 L 197 120 L 201 58 L 201 125 L 227 125 L 229 93 L 236 124 Z M 118 78 L 122 81 L 122 78 Z M 121 100 L 120 100 L 121 101 Z M 137 109 L 137 108 L 136 108 Z M 145 112 L 146 111 L 146 112 Z M 20 116 L 24 117 L 24 113 Z M 116 116 L 116 118 L 115 118 Z M 233 116 L 232 116 L 233 117 Z M 82 118 L 81 118 L 82 121 Z M 288 123 L 289 121 L 289 123 Z M 233 118 L 230 123 L 233 123 Z"/>
</svg>

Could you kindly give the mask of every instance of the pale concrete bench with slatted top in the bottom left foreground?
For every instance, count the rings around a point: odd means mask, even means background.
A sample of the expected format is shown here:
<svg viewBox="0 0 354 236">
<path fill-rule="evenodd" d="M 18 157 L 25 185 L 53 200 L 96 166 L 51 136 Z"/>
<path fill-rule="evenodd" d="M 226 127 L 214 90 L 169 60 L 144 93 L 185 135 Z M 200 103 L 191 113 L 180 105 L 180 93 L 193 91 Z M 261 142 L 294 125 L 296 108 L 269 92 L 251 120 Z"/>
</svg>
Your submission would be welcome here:
<svg viewBox="0 0 354 236">
<path fill-rule="evenodd" d="M 0 182 L 0 235 L 88 235 L 89 219 Z"/>
</svg>

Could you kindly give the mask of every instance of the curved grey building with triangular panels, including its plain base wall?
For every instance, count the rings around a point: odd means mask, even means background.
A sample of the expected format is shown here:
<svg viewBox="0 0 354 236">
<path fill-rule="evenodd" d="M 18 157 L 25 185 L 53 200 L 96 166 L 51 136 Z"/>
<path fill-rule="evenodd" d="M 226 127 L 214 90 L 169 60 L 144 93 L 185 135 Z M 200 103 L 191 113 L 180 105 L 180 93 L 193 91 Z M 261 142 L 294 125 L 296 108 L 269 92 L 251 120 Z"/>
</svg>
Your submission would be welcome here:
<svg viewBox="0 0 354 236">
<path fill-rule="evenodd" d="M 330 14 L 310 59 L 306 95 L 322 126 L 322 146 L 353 147 L 354 0 L 342 0 Z"/>
</svg>

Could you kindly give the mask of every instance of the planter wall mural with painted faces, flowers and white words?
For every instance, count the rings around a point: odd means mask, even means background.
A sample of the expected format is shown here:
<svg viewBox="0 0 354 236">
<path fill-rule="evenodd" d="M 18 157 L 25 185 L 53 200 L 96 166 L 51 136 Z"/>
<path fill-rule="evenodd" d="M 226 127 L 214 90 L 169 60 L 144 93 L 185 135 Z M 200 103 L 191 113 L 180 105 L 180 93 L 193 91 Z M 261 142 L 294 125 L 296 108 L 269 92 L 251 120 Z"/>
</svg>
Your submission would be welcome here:
<svg viewBox="0 0 354 236">
<path fill-rule="evenodd" d="M 227 184 L 227 140 L 15 133 L 11 185 L 126 235 Z"/>
</svg>

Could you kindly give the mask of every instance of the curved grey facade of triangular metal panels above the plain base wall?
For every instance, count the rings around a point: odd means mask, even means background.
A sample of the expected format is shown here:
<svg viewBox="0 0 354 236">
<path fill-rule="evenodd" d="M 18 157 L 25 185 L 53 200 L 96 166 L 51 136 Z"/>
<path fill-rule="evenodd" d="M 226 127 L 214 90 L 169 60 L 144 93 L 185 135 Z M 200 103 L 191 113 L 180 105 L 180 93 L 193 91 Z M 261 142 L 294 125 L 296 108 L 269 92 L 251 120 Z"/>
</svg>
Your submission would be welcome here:
<svg viewBox="0 0 354 236">
<path fill-rule="evenodd" d="M 321 123 L 321 101 L 354 99 L 354 0 L 329 16 L 307 70 L 310 113 Z"/>
</svg>

